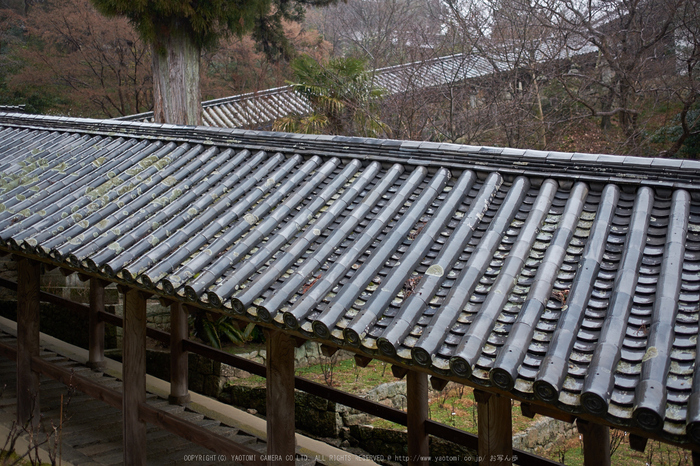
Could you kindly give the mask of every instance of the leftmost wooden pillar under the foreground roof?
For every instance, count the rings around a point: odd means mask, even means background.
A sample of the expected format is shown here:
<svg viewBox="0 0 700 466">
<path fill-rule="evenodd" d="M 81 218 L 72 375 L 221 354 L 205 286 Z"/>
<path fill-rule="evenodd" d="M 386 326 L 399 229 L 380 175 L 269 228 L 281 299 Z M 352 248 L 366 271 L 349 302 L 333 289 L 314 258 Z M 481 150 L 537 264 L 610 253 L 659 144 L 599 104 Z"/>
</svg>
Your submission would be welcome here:
<svg viewBox="0 0 700 466">
<path fill-rule="evenodd" d="M 41 264 L 18 258 L 17 280 L 17 422 L 39 425 L 39 374 L 32 357 L 39 356 L 39 280 Z"/>
</svg>

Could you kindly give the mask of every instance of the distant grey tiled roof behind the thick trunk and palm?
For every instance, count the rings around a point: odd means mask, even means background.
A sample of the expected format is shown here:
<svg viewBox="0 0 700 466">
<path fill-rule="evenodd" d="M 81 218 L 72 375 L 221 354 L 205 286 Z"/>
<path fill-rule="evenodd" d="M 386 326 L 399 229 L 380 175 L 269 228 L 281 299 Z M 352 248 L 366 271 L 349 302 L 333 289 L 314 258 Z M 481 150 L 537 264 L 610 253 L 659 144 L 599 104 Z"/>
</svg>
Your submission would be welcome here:
<svg viewBox="0 0 700 466">
<path fill-rule="evenodd" d="M 459 82 L 493 71 L 484 59 L 463 54 L 374 70 L 376 85 L 387 94 Z M 220 128 L 265 128 L 278 118 L 311 111 L 308 100 L 292 86 L 209 100 L 202 103 L 202 124 Z M 153 112 L 118 118 L 153 121 Z"/>
</svg>

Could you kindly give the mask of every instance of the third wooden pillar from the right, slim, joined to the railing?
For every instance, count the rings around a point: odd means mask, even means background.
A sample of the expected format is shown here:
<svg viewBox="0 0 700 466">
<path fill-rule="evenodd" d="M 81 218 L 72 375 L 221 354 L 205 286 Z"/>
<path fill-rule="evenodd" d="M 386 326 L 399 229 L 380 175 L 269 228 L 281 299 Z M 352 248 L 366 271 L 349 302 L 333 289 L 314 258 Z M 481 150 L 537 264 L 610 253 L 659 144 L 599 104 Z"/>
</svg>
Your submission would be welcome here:
<svg viewBox="0 0 700 466">
<path fill-rule="evenodd" d="M 408 464 L 428 466 L 430 446 L 425 421 L 428 419 L 428 374 L 408 371 L 406 376 L 408 401 Z"/>
</svg>

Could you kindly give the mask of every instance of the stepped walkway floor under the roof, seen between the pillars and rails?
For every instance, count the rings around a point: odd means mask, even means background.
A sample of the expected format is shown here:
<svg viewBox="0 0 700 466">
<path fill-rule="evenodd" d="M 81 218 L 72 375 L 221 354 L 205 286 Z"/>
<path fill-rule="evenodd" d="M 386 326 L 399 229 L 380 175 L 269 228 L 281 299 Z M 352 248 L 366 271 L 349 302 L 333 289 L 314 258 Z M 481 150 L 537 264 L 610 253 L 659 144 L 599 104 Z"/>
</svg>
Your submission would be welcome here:
<svg viewBox="0 0 700 466">
<path fill-rule="evenodd" d="M 15 346 L 15 338 L 0 332 L 0 342 Z M 56 353 L 42 349 L 41 357 L 57 365 L 72 370 L 75 374 L 87 377 L 105 387 L 120 391 L 121 381 L 102 372 L 93 371 L 84 365 L 67 359 Z M 16 364 L 0 356 L 0 424 L 9 427 L 16 419 Z M 63 397 L 63 398 L 61 398 Z M 205 427 L 233 441 L 244 444 L 260 453 L 265 453 L 267 444 L 264 440 L 243 432 L 235 427 L 206 417 L 183 406 L 168 404 L 167 400 L 149 393 L 147 403 L 167 411 L 189 422 Z M 59 428 L 61 407 L 63 425 L 60 426 L 60 458 L 63 464 L 73 465 L 119 465 L 123 464 L 122 417 L 119 409 L 91 398 L 83 393 L 73 391 L 61 382 L 41 377 L 40 386 L 41 429 L 54 432 Z M 45 438 L 41 437 L 42 439 Z M 53 437 L 51 439 L 53 442 Z M 5 438 L 0 438 L 0 448 Z M 225 461 L 220 455 L 191 443 L 181 437 L 148 425 L 147 430 L 147 464 L 149 465 L 209 465 L 237 464 Z M 47 448 L 48 449 L 48 448 Z M 56 464 L 59 464 L 58 460 Z M 297 456 L 299 466 L 322 466 L 315 459 Z"/>
</svg>

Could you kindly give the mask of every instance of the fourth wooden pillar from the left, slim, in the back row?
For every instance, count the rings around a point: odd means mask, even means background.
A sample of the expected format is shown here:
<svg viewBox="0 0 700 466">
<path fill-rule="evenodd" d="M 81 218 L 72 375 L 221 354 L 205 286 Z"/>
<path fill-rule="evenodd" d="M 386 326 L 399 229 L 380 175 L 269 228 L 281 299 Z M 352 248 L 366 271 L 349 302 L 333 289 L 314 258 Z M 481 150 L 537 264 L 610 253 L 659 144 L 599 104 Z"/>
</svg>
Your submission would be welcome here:
<svg viewBox="0 0 700 466">
<path fill-rule="evenodd" d="M 182 349 L 182 340 L 189 336 L 187 311 L 182 303 L 170 304 L 170 404 L 189 403 L 190 393 L 187 386 L 188 365 L 187 351 Z"/>
</svg>

